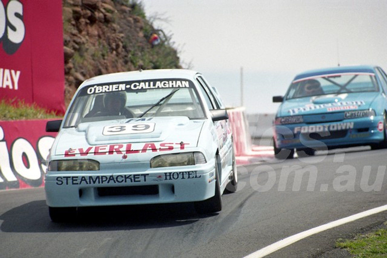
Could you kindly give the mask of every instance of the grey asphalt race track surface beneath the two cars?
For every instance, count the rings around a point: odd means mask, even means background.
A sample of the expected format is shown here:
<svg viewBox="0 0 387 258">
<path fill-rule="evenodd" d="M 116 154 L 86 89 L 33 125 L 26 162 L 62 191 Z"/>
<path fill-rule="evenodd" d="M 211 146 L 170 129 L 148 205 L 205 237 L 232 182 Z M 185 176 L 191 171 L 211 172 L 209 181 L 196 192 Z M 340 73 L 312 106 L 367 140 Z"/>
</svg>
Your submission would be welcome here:
<svg viewBox="0 0 387 258">
<path fill-rule="evenodd" d="M 357 150 L 238 166 L 239 190 L 223 195 L 223 210 L 212 215 L 191 203 L 84 208 L 79 221 L 58 224 L 43 188 L 0 191 L 0 257 L 244 257 L 387 204 L 386 157 L 387 150 Z M 386 220 L 380 212 L 267 257 L 345 257 L 332 251 L 336 239 Z"/>
</svg>

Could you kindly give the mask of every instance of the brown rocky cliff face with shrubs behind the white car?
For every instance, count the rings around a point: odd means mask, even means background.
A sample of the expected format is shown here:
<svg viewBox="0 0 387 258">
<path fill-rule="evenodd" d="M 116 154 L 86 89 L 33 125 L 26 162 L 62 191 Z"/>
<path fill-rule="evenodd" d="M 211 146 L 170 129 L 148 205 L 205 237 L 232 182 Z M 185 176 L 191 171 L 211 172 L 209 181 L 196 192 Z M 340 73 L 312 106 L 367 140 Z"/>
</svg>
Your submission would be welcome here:
<svg viewBox="0 0 387 258">
<path fill-rule="evenodd" d="M 62 0 L 65 104 L 83 80 L 142 69 L 181 68 L 173 44 L 134 0 Z M 156 33 L 160 43 L 150 42 Z"/>
</svg>

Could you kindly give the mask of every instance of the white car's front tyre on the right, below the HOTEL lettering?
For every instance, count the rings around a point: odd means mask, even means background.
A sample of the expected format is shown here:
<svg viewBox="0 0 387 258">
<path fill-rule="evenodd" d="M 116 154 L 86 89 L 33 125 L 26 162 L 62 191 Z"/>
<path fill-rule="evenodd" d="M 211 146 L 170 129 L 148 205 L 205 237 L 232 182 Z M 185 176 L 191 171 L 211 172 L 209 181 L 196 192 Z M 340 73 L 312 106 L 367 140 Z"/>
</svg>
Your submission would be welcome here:
<svg viewBox="0 0 387 258">
<path fill-rule="evenodd" d="M 222 194 L 220 192 L 219 183 L 219 162 L 216 158 L 215 164 L 215 195 L 211 198 L 195 202 L 195 210 L 199 214 L 208 214 L 214 212 L 220 212 L 222 210 Z"/>
</svg>

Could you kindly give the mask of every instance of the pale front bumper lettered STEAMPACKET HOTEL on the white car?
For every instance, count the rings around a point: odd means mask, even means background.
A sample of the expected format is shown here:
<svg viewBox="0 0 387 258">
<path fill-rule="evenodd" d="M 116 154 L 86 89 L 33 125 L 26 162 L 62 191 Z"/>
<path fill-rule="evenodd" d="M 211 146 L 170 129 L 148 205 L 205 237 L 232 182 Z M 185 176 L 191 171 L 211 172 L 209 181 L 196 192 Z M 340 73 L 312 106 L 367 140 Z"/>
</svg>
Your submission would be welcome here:
<svg viewBox="0 0 387 258">
<path fill-rule="evenodd" d="M 214 165 L 130 171 L 128 164 L 110 164 L 101 171 L 48 172 L 46 203 L 50 207 L 86 207 L 206 200 L 215 193 Z"/>
</svg>

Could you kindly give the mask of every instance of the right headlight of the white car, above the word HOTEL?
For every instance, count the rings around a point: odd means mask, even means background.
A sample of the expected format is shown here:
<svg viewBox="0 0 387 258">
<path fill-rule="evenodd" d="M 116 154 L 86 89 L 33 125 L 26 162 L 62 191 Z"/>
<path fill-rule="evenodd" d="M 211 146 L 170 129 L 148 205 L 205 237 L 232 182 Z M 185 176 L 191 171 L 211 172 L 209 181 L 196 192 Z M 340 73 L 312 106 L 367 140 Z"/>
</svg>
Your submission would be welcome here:
<svg viewBox="0 0 387 258">
<path fill-rule="evenodd" d="M 151 167 L 176 167 L 204 164 L 207 162 L 201 152 L 164 154 L 151 159 Z"/>
</svg>

